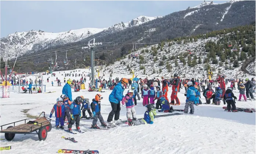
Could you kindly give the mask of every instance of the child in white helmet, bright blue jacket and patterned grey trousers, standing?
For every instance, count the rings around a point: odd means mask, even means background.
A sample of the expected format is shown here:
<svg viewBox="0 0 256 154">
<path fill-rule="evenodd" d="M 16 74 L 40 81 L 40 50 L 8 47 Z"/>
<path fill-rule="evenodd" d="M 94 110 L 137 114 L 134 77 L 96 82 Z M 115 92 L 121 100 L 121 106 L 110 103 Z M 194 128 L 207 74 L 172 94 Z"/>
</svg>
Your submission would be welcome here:
<svg viewBox="0 0 256 154">
<path fill-rule="evenodd" d="M 190 114 L 194 114 L 195 95 L 198 90 L 195 89 L 191 81 L 189 81 L 187 85 L 188 85 L 188 90 L 187 90 L 187 94 L 185 94 L 185 96 L 187 96 L 187 99 L 186 99 L 184 113 L 188 113 L 188 106 L 189 106 Z"/>
</svg>

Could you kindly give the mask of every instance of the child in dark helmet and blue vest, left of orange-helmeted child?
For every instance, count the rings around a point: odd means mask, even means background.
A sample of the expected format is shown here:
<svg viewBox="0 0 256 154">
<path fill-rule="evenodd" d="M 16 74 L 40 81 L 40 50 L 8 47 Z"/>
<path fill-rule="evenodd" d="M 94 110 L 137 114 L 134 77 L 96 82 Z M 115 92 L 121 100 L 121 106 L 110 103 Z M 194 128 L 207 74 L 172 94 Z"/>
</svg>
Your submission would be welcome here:
<svg viewBox="0 0 256 154">
<path fill-rule="evenodd" d="M 82 117 L 81 113 L 81 103 L 83 102 L 83 98 L 78 96 L 70 105 L 70 114 L 71 114 L 71 121 L 68 124 L 68 131 L 72 132 L 72 125 L 76 122 L 76 130 L 81 132 L 79 123 L 80 117 Z"/>
</svg>

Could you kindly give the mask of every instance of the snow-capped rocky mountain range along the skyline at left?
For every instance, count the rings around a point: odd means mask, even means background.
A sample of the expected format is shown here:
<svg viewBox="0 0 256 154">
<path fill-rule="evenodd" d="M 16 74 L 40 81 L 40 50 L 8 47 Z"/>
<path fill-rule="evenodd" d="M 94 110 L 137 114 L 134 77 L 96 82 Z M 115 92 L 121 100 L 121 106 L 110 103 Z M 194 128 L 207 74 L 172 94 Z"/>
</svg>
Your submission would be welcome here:
<svg viewBox="0 0 256 154">
<path fill-rule="evenodd" d="M 46 49 L 49 47 L 64 45 L 67 43 L 77 42 L 83 40 L 93 34 L 105 31 L 108 33 L 113 33 L 115 31 L 124 30 L 128 27 L 138 26 L 150 20 L 154 20 L 161 17 L 149 17 L 149 16 L 139 16 L 136 19 L 132 19 L 126 23 L 118 23 L 108 28 L 83 28 L 77 30 L 69 30 L 60 33 L 48 33 L 42 30 L 30 30 L 28 32 L 16 32 L 14 34 L 9 34 L 7 37 L 1 38 L 1 55 L 4 53 L 5 49 L 8 49 L 9 59 L 14 58 L 19 52 L 19 55 L 30 51 L 37 51 Z M 9 44 L 9 45 L 8 45 Z"/>
</svg>

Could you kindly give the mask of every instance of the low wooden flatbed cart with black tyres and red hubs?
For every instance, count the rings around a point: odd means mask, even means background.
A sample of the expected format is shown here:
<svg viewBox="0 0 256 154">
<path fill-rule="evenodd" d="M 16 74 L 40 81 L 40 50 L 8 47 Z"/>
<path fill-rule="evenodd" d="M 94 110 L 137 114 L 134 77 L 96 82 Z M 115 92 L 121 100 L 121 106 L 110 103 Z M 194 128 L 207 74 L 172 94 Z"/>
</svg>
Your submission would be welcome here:
<svg viewBox="0 0 256 154">
<path fill-rule="evenodd" d="M 41 114 L 44 113 L 43 117 L 40 117 Z M 6 129 L 3 130 L 3 126 L 1 125 L 1 133 L 4 133 L 4 136 L 6 140 L 12 140 L 15 136 L 15 134 L 37 134 L 39 140 L 46 140 L 47 137 L 47 132 L 51 131 L 51 119 L 48 117 L 45 117 L 45 112 L 42 112 L 39 117 L 36 120 L 38 124 L 27 124 L 31 119 L 24 119 L 24 120 L 19 120 L 15 121 L 13 123 L 5 124 L 5 125 L 10 125 L 13 124 L 13 126 L 9 126 Z M 15 123 L 20 122 L 20 121 L 25 121 L 24 124 L 16 125 Z M 37 132 L 37 130 L 39 130 Z M 32 133 L 36 132 L 36 133 Z"/>
</svg>

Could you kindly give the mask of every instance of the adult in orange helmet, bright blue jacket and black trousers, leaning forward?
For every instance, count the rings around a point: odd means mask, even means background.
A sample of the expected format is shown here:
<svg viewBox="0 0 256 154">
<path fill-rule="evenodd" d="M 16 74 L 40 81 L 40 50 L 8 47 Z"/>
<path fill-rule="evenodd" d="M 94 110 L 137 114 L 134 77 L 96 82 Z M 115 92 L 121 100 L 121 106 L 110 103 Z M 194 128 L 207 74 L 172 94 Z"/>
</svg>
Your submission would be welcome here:
<svg viewBox="0 0 256 154">
<path fill-rule="evenodd" d="M 119 120 L 119 115 L 120 115 L 120 110 L 121 110 L 120 101 L 122 100 L 123 97 L 125 97 L 123 95 L 123 90 L 124 90 L 123 86 L 127 83 L 128 83 L 128 80 L 126 78 L 123 78 L 115 86 L 112 93 L 108 97 L 108 100 L 109 100 L 109 102 L 111 104 L 111 107 L 112 107 L 112 111 L 108 115 L 108 120 L 107 120 L 108 123 L 113 124 L 113 123 L 118 123 L 120 121 Z M 125 100 L 125 102 L 128 102 L 128 101 Z M 113 122 L 112 120 L 113 120 L 114 115 L 115 115 L 115 118 L 114 118 L 115 121 Z"/>
</svg>

